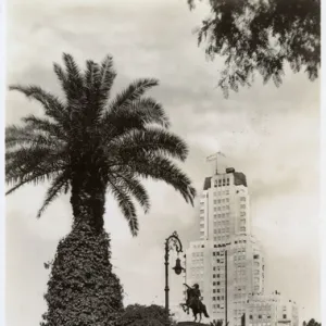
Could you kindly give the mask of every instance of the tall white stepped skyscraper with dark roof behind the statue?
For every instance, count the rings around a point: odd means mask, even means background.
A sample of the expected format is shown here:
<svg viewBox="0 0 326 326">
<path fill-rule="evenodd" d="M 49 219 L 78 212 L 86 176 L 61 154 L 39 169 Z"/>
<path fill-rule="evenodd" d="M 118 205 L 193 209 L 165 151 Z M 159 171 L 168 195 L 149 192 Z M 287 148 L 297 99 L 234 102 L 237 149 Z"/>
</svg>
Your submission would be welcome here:
<svg viewBox="0 0 326 326">
<path fill-rule="evenodd" d="M 186 283 L 198 283 L 213 319 L 241 325 L 249 293 L 264 291 L 264 256 L 251 235 L 243 173 L 226 168 L 204 180 L 200 240 L 190 243 Z"/>
</svg>

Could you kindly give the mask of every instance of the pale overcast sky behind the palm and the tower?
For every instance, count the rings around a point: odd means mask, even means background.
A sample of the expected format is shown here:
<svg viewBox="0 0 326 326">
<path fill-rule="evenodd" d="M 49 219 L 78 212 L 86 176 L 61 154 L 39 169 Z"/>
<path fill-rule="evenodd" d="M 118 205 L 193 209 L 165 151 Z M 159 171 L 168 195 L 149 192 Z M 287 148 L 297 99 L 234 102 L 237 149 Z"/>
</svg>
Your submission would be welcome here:
<svg viewBox="0 0 326 326">
<path fill-rule="evenodd" d="M 223 164 L 246 173 L 254 235 L 266 252 L 266 291 L 298 302 L 300 319 L 321 318 L 318 262 L 318 82 L 287 74 L 281 88 L 262 86 L 224 99 L 215 88 L 218 61 L 206 62 L 191 30 L 205 9 L 189 12 L 186 0 L 11 0 L 8 1 L 8 83 L 38 84 L 59 91 L 52 63 L 62 52 L 78 63 L 114 57 L 115 89 L 137 77 L 155 77 L 154 96 L 170 114 L 173 130 L 190 148 L 184 164 L 200 191 L 212 172 L 205 156 L 223 151 Z M 8 93 L 7 123 L 40 108 Z M 108 197 L 105 227 L 112 263 L 125 302 L 163 304 L 163 242 L 177 230 L 187 247 L 196 239 L 197 205 L 162 184 L 147 183 L 152 209 L 140 214 L 131 238 Z M 7 325 L 35 326 L 46 311 L 42 294 L 58 241 L 70 231 L 72 211 L 60 198 L 41 220 L 36 213 L 45 186 L 25 187 L 7 199 Z M 151 279 L 151 281 L 149 281 Z M 181 300 L 181 279 L 172 278 L 171 298 Z"/>
</svg>

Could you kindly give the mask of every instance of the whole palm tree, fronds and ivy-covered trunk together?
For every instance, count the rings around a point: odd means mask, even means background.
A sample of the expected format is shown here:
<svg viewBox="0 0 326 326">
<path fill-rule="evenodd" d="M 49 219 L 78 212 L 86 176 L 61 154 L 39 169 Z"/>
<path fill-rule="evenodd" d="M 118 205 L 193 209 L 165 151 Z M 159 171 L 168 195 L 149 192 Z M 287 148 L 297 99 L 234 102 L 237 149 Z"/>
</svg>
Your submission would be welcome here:
<svg viewBox="0 0 326 326">
<path fill-rule="evenodd" d="M 175 160 L 186 160 L 186 143 L 168 130 L 170 122 L 163 106 L 145 96 L 159 84 L 156 79 L 138 79 L 109 101 L 116 76 L 112 57 L 108 55 L 100 64 L 87 61 L 84 72 L 72 55 L 63 54 L 63 61 L 64 67 L 54 64 L 63 100 L 38 86 L 10 87 L 38 101 L 45 116 L 27 115 L 22 126 L 7 127 L 5 174 L 7 183 L 12 186 L 7 195 L 27 184 L 50 181 L 37 214 L 39 217 L 59 195 L 71 191 L 73 228 L 58 247 L 46 297 L 49 313 L 43 325 L 102 325 L 108 318 L 104 313 L 108 306 L 103 308 L 100 317 L 95 317 L 93 311 L 99 310 L 103 301 L 110 302 L 113 296 L 108 290 L 110 283 L 102 279 L 105 273 L 106 277 L 113 275 L 108 253 L 110 239 L 103 229 L 106 190 L 117 200 L 133 236 L 139 230 L 134 201 L 146 213 L 150 209 L 142 178 L 165 181 L 191 204 L 196 190 L 175 163 Z M 75 265 L 71 264 L 74 260 Z M 85 264 L 88 264 L 88 272 L 85 272 Z M 71 269 L 67 269 L 68 265 Z M 87 279 L 96 279 L 97 273 L 102 279 L 93 281 L 87 291 L 83 290 L 85 297 L 80 294 L 80 288 L 76 290 L 68 277 L 64 277 L 77 269 Z M 118 279 L 114 279 L 112 287 L 122 298 Z M 83 281 L 80 287 L 84 289 Z M 93 299 L 105 289 L 105 296 L 105 296 L 101 300 Z M 78 298 L 75 300 L 75 297 Z M 121 306 L 118 301 L 108 304 L 117 309 Z M 55 317 L 51 317 L 55 311 Z M 71 313 L 70 317 L 63 317 L 63 311 Z"/>
</svg>

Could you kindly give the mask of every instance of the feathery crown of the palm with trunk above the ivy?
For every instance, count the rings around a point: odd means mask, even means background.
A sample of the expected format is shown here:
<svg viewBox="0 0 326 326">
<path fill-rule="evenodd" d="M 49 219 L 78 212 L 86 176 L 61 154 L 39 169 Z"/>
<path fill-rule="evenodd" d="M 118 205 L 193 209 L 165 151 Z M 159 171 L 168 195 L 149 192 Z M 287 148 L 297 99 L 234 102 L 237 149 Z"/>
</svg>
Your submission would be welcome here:
<svg viewBox="0 0 326 326">
<path fill-rule="evenodd" d="M 101 231 L 109 190 L 134 236 L 139 229 L 135 200 L 145 212 L 150 209 L 141 178 L 163 180 L 192 203 L 195 188 L 175 163 L 186 160 L 187 146 L 168 130 L 162 104 L 145 96 L 159 82 L 135 80 L 111 99 L 116 76 L 111 57 L 100 64 L 87 61 L 84 72 L 72 55 L 63 54 L 63 61 L 64 67 L 54 64 L 63 100 L 38 86 L 11 87 L 38 101 L 45 116 L 28 115 L 23 126 L 5 130 L 7 183 L 13 185 L 7 193 L 49 180 L 38 216 L 71 190 L 74 223 L 87 220 Z"/>
</svg>

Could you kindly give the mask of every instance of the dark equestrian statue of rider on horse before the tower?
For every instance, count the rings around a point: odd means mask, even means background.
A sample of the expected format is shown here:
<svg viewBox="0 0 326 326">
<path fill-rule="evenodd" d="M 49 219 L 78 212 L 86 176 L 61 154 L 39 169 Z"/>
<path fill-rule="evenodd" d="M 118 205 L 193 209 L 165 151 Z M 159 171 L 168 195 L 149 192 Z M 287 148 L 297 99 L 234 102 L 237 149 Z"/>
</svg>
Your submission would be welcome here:
<svg viewBox="0 0 326 326">
<path fill-rule="evenodd" d="M 197 316 L 199 315 L 199 323 L 201 322 L 202 314 L 209 318 L 209 314 L 206 311 L 206 306 L 201 301 L 201 293 L 199 290 L 198 284 L 196 284 L 192 288 L 189 287 L 187 284 L 184 284 L 187 287 L 187 300 L 186 303 L 181 303 L 181 308 L 184 312 L 189 314 L 189 309 L 192 310 L 192 314 L 195 317 L 193 322 L 197 322 Z"/>
</svg>

